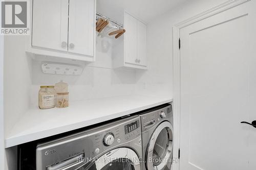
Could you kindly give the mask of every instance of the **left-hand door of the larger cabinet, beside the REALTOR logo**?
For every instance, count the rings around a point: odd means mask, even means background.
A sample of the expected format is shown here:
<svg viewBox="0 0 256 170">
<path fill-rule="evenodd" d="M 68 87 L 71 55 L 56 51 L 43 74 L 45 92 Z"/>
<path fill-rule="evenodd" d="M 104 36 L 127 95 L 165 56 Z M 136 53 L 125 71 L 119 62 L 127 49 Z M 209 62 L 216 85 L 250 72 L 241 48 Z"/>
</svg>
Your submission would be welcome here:
<svg viewBox="0 0 256 170">
<path fill-rule="evenodd" d="M 68 50 L 69 0 L 34 0 L 32 46 Z"/>
</svg>

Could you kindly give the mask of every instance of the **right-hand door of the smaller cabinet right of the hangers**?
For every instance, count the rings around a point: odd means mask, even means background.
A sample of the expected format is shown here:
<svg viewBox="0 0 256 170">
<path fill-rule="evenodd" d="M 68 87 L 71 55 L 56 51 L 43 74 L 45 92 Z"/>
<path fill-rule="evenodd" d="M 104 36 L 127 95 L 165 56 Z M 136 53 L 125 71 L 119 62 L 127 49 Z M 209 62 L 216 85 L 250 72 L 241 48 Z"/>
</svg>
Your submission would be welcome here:
<svg viewBox="0 0 256 170">
<path fill-rule="evenodd" d="M 146 25 L 138 20 L 138 63 L 146 66 Z"/>
</svg>

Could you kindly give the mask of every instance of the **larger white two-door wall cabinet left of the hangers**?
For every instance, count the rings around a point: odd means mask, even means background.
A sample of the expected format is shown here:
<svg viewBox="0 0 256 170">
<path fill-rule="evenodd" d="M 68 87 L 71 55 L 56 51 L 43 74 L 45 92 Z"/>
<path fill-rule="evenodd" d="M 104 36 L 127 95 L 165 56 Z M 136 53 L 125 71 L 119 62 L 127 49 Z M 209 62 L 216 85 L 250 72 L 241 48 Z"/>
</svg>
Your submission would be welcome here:
<svg viewBox="0 0 256 170">
<path fill-rule="evenodd" d="M 33 0 L 29 52 L 95 61 L 95 0 Z"/>
</svg>

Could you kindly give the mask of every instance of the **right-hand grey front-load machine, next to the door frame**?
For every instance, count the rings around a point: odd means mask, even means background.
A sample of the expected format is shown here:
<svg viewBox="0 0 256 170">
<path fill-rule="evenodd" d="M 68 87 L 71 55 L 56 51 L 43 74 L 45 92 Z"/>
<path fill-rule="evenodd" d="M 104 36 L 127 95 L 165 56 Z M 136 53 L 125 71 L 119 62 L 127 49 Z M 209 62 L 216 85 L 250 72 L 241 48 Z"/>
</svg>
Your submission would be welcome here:
<svg viewBox="0 0 256 170">
<path fill-rule="evenodd" d="M 166 104 L 139 115 L 141 118 L 143 170 L 170 169 L 173 158 L 173 111 Z"/>
</svg>

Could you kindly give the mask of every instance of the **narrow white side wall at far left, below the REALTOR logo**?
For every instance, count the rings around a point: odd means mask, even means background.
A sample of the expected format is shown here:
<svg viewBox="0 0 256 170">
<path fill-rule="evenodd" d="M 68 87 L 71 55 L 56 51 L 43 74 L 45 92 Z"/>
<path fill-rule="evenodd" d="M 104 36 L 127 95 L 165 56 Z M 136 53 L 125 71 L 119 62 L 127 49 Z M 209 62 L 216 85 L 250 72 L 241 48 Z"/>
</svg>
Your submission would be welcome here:
<svg viewBox="0 0 256 170">
<path fill-rule="evenodd" d="M 4 43 L 4 124 L 8 135 L 29 107 L 31 58 L 25 52 L 25 36 L 5 36 Z"/>
</svg>

